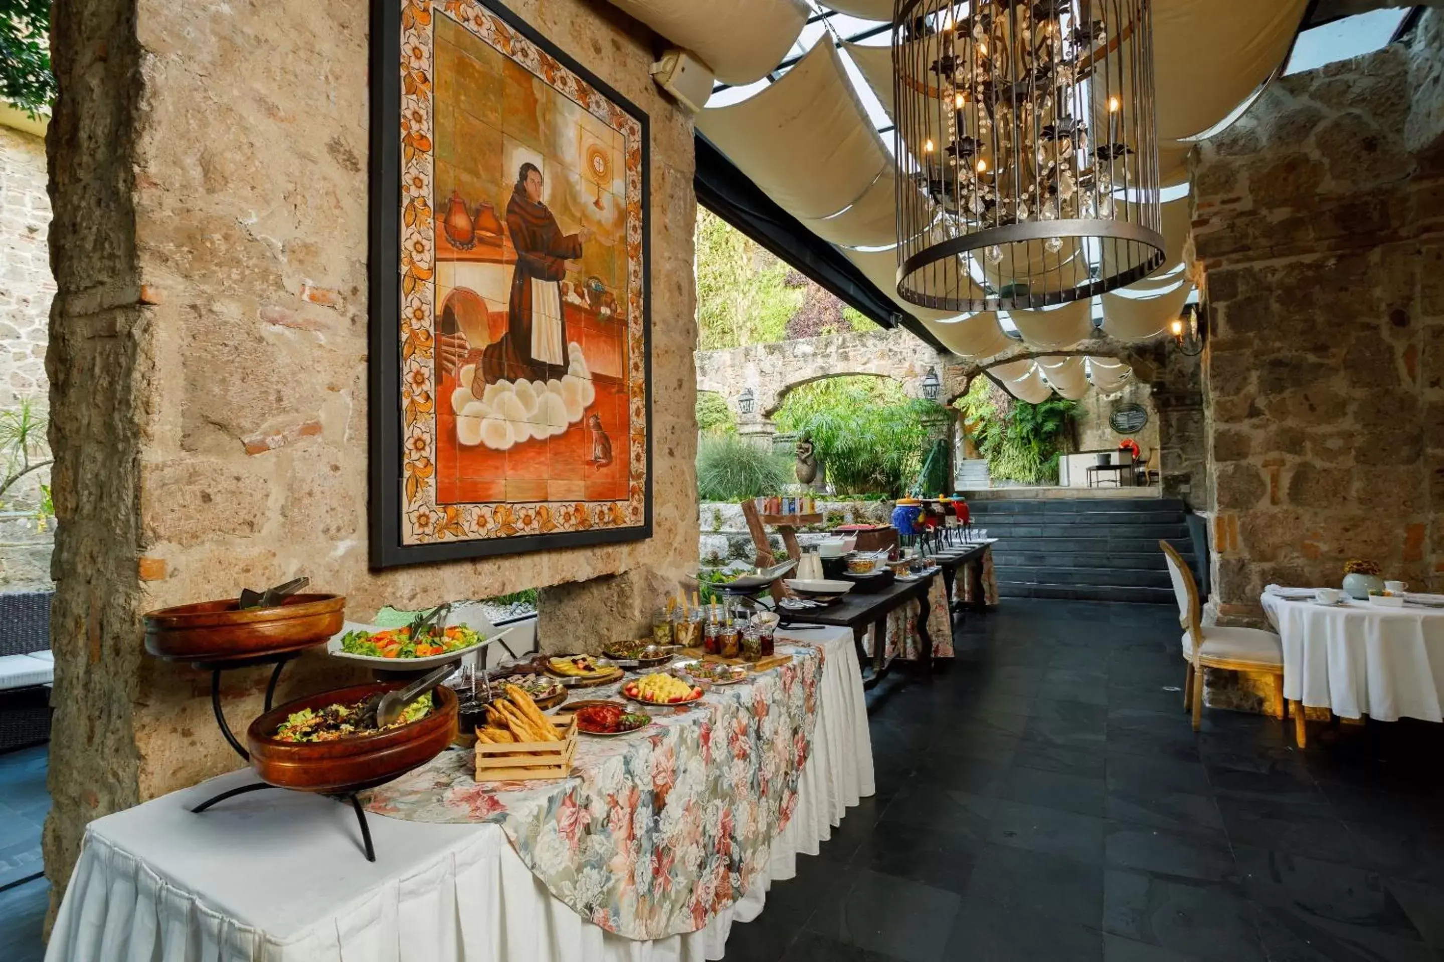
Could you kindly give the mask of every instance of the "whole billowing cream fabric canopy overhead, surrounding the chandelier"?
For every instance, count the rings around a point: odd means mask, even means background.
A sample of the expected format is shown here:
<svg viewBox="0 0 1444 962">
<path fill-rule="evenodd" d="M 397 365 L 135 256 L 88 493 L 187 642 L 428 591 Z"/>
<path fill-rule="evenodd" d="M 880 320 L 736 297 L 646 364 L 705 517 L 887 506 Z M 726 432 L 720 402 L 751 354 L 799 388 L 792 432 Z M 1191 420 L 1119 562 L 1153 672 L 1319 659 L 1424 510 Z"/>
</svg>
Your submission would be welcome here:
<svg viewBox="0 0 1444 962">
<path fill-rule="evenodd" d="M 803 0 L 614 0 L 669 39 L 696 50 L 722 79 L 745 82 L 781 61 L 803 27 Z M 892 19 L 894 0 L 822 0 L 845 14 Z M 1308 0 L 1155 0 L 1152 4 L 1154 79 L 1158 118 L 1158 169 L 1162 187 L 1186 183 L 1188 153 L 1199 134 L 1223 121 L 1255 94 L 1279 66 L 1304 16 Z M 671 30 L 671 32 L 669 32 Z M 684 39 L 683 32 L 686 33 Z M 778 39 L 780 37 L 780 39 Z M 774 42 L 775 40 L 775 42 Z M 781 40 L 787 40 L 781 45 Z M 894 115 L 892 48 L 887 43 L 842 42 L 856 66 L 853 76 Z M 778 49 L 780 48 L 780 49 Z M 708 50 L 712 50 L 710 53 Z M 1206 50 L 1206 55 L 1200 55 Z M 817 237 L 843 248 L 843 254 L 881 288 L 898 309 L 917 317 L 954 353 L 988 358 L 1017 342 L 1004 333 L 988 312 L 960 317 L 918 307 L 897 296 L 895 211 L 901 189 L 890 144 L 875 131 L 862 100 L 853 89 L 832 33 L 823 33 L 791 69 L 749 100 L 703 110 L 697 130 L 712 140 L 780 206 Z M 761 62 L 768 62 L 760 68 Z M 726 63 L 726 68 L 723 68 Z M 1128 75 L 1128 65 L 1123 65 Z M 920 78 L 927 82 L 927 78 Z M 920 136 L 926 136 L 924 130 Z M 891 136 L 890 136 L 891 137 Z M 936 138 L 934 138 L 936 140 Z M 921 144 L 902 144 L 918 153 Z M 1123 202 L 1118 195 L 1118 202 Z M 934 229 L 934 228 L 928 228 Z M 936 228 L 941 229 L 941 228 Z M 1053 310 L 1015 310 L 1009 316 L 1032 348 L 1061 349 L 1093 335 L 1093 304 L 1102 304 L 1103 330 L 1116 339 L 1138 340 L 1167 330 L 1187 301 L 1191 281 L 1190 202 L 1162 205 L 1165 260 L 1148 278 L 1105 294 L 1100 301 L 1071 301 Z M 874 248 L 874 250 L 858 250 Z M 879 250 L 887 248 L 887 250 Z M 1060 275 L 1084 277 L 1106 250 L 1064 247 L 1047 267 Z M 1090 262 L 1092 261 L 1092 262 Z M 979 258 L 975 281 L 996 290 L 1014 274 L 1006 257 L 993 264 Z M 956 268 L 966 270 L 966 268 Z M 976 290 L 982 286 L 975 283 Z M 1132 296 L 1131 296 L 1132 294 Z M 1009 369 L 1012 371 L 1012 369 Z M 1066 359 L 1057 365 L 1022 363 L 1005 378 L 1017 397 L 1057 389 L 1074 397 L 1092 384 L 1116 391 L 1129 375 L 1128 365 Z M 1080 387 L 1082 385 L 1082 387 Z"/>
</svg>

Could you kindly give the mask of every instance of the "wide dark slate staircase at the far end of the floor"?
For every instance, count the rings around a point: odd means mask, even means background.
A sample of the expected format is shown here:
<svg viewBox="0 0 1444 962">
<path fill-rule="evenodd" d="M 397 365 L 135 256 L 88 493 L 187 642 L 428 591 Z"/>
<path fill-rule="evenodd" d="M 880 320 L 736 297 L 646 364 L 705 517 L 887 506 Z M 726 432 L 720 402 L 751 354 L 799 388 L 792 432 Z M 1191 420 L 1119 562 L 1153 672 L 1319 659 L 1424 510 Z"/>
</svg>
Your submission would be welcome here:
<svg viewBox="0 0 1444 962">
<path fill-rule="evenodd" d="M 1177 498 L 969 498 L 969 508 L 973 524 L 999 538 L 1002 597 L 1175 604 L 1160 538 L 1199 577 L 1188 509 Z"/>
</svg>

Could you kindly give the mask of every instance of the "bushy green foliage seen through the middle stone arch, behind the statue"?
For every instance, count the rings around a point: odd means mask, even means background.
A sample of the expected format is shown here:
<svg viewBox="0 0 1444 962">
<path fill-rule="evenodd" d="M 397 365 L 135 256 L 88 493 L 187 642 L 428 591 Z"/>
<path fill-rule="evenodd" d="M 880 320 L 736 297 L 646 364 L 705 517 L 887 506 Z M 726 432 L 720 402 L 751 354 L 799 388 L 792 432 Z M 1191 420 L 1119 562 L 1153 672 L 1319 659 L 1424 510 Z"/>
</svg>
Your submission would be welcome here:
<svg viewBox="0 0 1444 962">
<path fill-rule="evenodd" d="M 827 378 L 793 389 L 774 418 L 778 430 L 812 438 L 839 493 L 898 496 L 923 467 L 924 420 L 947 417 L 902 385 L 866 375 Z"/>
</svg>

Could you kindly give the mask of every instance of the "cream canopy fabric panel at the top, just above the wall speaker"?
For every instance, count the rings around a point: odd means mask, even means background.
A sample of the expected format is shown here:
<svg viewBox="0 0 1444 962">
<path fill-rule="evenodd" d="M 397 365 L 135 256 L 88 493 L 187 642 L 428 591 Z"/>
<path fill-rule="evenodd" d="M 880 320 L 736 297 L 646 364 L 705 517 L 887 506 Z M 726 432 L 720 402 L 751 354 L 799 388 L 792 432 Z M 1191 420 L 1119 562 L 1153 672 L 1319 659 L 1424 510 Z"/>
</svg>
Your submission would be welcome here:
<svg viewBox="0 0 1444 962">
<path fill-rule="evenodd" d="M 762 79 L 787 56 L 812 13 L 803 0 L 612 0 L 612 6 L 696 53 L 723 84 Z"/>
</svg>

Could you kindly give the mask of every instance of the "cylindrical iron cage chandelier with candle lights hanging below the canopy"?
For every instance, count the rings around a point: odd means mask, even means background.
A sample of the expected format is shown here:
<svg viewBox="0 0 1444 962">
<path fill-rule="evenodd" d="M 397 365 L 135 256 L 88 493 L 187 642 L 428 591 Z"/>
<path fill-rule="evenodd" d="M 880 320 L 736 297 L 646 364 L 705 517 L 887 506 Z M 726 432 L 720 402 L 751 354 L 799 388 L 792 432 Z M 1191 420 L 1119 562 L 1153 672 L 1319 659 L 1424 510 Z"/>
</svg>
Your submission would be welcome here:
<svg viewBox="0 0 1444 962">
<path fill-rule="evenodd" d="M 1151 0 L 897 0 L 898 294 L 1037 309 L 1162 264 Z"/>
</svg>

